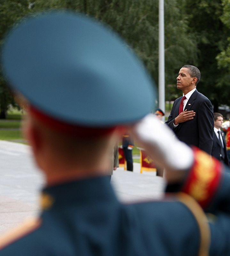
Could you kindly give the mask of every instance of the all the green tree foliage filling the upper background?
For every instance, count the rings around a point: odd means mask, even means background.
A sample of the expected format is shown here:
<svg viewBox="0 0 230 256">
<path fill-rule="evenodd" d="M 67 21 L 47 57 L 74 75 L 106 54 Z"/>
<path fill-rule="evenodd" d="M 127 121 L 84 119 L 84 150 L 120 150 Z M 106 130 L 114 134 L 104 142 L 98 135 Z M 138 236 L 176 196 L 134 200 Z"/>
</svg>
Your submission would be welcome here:
<svg viewBox="0 0 230 256">
<path fill-rule="evenodd" d="M 185 64 L 200 68 L 199 91 L 211 100 L 228 102 L 220 88 L 229 88 L 229 0 L 165 0 L 166 100 L 181 94 L 176 77 Z M 158 0 L 1 0 L 0 46 L 13 23 L 50 9 L 83 12 L 107 24 L 124 38 L 158 83 Z M 218 70 L 218 67 L 221 69 Z M 0 74 L 1 75 L 1 74 Z M 0 108 L 13 100 L 0 78 Z"/>
</svg>

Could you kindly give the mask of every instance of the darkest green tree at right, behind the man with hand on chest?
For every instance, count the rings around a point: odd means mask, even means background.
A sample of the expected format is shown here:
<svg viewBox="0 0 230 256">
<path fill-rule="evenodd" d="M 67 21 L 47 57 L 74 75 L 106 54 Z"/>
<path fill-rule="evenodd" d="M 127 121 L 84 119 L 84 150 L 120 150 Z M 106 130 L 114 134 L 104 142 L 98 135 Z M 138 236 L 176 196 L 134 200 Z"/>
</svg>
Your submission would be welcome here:
<svg viewBox="0 0 230 256">
<path fill-rule="evenodd" d="M 201 80 L 197 88 L 211 100 L 214 111 L 218 111 L 219 104 L 230 104 L 227 96 L 230 93 L 229 73 L 226 69 L 218 69 L 220 65 L 217 63 L 217 56 L 225 49 L 229 35 L 229 29 L 220 20 L 223 6 L 221 0 L 187 1 L 186 12 L 189 15 L 190 33 L 195 36 L 199 50 Z"/>
</svg>

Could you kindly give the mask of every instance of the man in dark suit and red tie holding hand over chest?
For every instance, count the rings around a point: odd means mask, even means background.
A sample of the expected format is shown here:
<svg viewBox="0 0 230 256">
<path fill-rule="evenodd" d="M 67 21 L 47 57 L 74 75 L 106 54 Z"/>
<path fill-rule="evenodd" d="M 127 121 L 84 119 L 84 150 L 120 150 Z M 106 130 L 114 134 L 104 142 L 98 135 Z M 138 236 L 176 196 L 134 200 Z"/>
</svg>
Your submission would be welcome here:
<svg viewBox="0 0 230 256">
<path fill-rule="evenodd" d="M 177 138 L 211 155 L 213 144 L 213 108 L 210 100 L 196 90 L 200 80 L 198 68 L 185 65 L 177 77 L 177 88 L 183 97 L 173 103 L 167 124 Z"/>
</svg>

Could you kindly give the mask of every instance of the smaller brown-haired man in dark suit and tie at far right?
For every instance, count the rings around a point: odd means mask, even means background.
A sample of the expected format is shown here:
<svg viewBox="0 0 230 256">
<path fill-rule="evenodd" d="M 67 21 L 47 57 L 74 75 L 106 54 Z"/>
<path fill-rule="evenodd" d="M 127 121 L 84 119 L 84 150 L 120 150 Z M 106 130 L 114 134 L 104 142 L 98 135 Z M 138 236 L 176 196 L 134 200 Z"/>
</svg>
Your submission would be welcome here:
<svg viewBox="0 0 230 256">
<path fill-rule="evenodd" d="M 214 138 L 212 145 L 212 156 L 229 166 L 226 152 L 225 133 L 220 130 L 223 124 L 223 115 L 214 113 Z"/>
</svg>

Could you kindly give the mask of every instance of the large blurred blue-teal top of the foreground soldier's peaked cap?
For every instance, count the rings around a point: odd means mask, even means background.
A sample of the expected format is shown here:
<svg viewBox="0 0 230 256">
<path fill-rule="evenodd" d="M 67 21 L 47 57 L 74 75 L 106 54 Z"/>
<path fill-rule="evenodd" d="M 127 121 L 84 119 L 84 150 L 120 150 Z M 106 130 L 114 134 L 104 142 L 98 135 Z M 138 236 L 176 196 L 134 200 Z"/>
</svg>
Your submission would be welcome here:
<svg viewBox="0 0 230 256">
<path fill-rule="evenodd" d="M 134 122 L 155 102 L 153 81 L 127 44 L 79 13 L 45 12 L 21 22 L 5 38 L 2 64 L 33 107 L 68 124 Z"/>
</svg>

